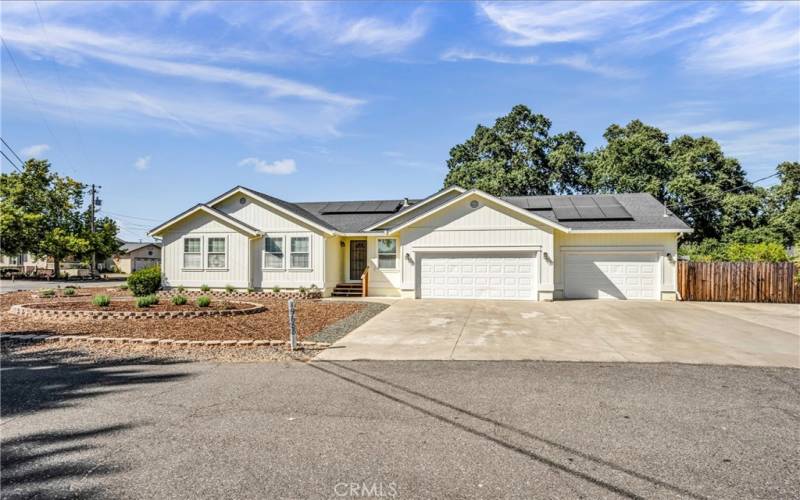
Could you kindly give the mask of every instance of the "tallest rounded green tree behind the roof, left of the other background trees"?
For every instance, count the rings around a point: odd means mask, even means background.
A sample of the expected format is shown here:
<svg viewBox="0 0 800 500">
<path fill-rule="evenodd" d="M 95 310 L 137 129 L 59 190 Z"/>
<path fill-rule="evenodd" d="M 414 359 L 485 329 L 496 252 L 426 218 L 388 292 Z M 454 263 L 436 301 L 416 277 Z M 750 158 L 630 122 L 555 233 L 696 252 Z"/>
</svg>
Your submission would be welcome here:
<svg viewBox="0 0 800 500">
<path fill-rule="evenodd" d="M 583 192 L 584 142 L 577 132 L 550 135 L 551 122 L 517 105 L 495 121 L 478 125 L 450 150 L 445 187 L 477 188 L 497 196 Z"/>
</svg>

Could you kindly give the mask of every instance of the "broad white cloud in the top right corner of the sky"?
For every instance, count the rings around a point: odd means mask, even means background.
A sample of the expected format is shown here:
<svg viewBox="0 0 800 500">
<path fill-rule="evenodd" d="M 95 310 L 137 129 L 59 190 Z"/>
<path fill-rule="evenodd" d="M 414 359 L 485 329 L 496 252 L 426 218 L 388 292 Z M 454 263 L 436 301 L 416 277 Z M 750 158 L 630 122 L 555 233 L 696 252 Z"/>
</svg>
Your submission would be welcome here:
<svg viewBox="0 0 800 500">
<path fill-rule="evenodd" d="M 800 3 L 745 4 L 745 20 L 721 25 L 686 58 L 690 67 L 750 74 L 800 66 Z"/>
</svg>

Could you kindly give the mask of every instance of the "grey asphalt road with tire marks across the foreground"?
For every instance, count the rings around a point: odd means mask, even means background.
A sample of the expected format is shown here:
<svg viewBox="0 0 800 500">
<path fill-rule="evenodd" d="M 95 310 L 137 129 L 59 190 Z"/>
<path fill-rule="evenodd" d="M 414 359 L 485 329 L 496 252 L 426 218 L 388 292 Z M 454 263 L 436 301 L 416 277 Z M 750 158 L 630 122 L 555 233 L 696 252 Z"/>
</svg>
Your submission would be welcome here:
<svg viewBox="0 0 800 500">
<path fill-rule="evenodd" d="M 13 356 L 2 496 L 798 498 L 800 371 Z"/>
</svg>

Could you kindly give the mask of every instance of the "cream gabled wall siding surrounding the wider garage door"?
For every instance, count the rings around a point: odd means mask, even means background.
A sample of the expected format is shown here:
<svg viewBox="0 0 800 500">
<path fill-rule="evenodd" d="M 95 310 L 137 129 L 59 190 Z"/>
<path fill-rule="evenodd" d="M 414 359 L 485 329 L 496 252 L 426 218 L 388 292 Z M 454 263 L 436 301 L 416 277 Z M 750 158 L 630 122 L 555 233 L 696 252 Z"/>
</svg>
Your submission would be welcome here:
<svg viewBox="0 0 800 500">
<path fill-rule="evenodd" d="M 472 201 L 478 207 L 470 206 Z M 423 218 L 400 232 L 403 294 L 413 296 L 416 289 L 418 254 L 442 251 L 535 251 L 539 298 L 549 299 L 553 290 L 553 229 L 523 220 L 501 205 L 486 204 L 483 198 L 466 197 L 444 211 Z M 547 258 L 543 253 L 547 253 Z M 411 259 L 405 258 L 405 253 Z"/>
</svg>

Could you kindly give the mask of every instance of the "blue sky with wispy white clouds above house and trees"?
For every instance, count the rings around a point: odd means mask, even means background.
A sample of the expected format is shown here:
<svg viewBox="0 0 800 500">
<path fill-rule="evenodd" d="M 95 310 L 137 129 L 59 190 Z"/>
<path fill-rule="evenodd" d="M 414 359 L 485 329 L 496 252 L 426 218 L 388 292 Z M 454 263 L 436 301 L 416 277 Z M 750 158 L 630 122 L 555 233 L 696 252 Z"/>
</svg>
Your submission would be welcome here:
<svg viewBox="0 0 800 500">
<path fill-rule="evenodd" d="M 800 156 L 798 3 L 38 8 L 0 4 L 2 136 L 102 185 L 131 240 L 237 184 L 426 196 L 449 149 L 518 103 L 588 148 L 634 118 L 709 135 L 751 179 Z"/>
</svg>

